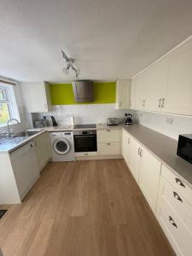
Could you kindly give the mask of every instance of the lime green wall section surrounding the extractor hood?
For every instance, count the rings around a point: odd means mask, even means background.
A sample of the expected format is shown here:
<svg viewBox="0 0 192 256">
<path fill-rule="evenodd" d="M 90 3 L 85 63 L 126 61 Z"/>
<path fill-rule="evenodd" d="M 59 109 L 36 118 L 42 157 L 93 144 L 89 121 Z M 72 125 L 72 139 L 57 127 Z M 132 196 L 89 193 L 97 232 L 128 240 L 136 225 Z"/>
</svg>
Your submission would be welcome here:
<svg viewBox="0 0 192 256">
<path fill-rule="evenodd" d="M 72 84 L 50 84 L 53 105 L 103 104 L 115 102 L 115 82 L 94 83 L 94 102 L 77 103 L 73 97 Z"/>
</svg>

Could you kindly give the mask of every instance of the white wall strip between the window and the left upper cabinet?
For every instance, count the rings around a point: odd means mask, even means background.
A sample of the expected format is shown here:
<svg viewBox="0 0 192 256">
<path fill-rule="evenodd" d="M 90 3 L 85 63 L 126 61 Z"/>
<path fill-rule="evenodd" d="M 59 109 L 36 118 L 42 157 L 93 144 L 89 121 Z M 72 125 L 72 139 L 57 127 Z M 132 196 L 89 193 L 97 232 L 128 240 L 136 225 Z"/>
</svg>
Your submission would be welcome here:
<svg viewBox="0 0 192 256">
<path fill-rule="evenodd" d="M 14 85 L 13 88 L 14 88 L 14 92 L 15 92 L 15 100 L 16 100 L 17 107 L 18 107 L 19 114 L 20 114 L 20 124 L 19 125 L 13 124 L 10 126 L 14 132 L 17 132 L 17 131 L 23 131 L 26 129 L 26 116 L 25 116 L 25 111 L 24 111 L 23 100 L 21 97 L 20 84 Z M 7 132 L 7 131 L 8 131 L 7 126 L 0 127 L 0 133 Z"/>
</svg>

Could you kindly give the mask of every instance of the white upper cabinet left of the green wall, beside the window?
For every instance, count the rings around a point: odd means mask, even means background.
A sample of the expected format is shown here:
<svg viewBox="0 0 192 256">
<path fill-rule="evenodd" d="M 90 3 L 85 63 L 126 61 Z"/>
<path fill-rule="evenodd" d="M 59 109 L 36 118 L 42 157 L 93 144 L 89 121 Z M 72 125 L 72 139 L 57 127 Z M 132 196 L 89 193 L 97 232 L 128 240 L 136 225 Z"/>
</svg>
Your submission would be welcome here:
<svg viewBox="0 0 192 256">
<path fill-rule="evenodd" d="M 26 96 L 27 110 L 31 113 L 46 113 L 50 111 L 50 94 L 48 83 L 25 83 L 24 96 Z"/>
</svg>

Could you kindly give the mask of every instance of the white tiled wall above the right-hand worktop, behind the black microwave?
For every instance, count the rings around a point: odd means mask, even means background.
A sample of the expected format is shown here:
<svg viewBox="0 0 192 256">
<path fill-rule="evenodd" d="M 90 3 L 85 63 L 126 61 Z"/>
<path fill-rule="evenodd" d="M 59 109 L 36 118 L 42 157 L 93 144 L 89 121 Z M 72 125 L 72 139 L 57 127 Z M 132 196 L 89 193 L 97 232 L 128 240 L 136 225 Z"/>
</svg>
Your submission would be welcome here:
<svg viewBox="0 0 192 256">
<path fill-rule="evenodd" d="M 139 124 L 176 140 L 179 134 L 192 133 L 192 117 L 143 111 L 133 113 Z"/>
</svg>

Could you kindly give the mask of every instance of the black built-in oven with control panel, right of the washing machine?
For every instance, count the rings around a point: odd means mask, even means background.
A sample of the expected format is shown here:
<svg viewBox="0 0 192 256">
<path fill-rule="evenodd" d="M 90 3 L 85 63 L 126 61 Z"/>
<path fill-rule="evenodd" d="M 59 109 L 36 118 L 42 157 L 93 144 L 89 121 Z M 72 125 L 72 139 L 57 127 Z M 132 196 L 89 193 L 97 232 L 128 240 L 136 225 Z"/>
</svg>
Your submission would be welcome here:
<svg viewBox="0 0 192 256">
<path fill-rule="evenodd" d="M 95 152 L 96 130 L 73 131 L 75 152 Z"/>
</svg>

